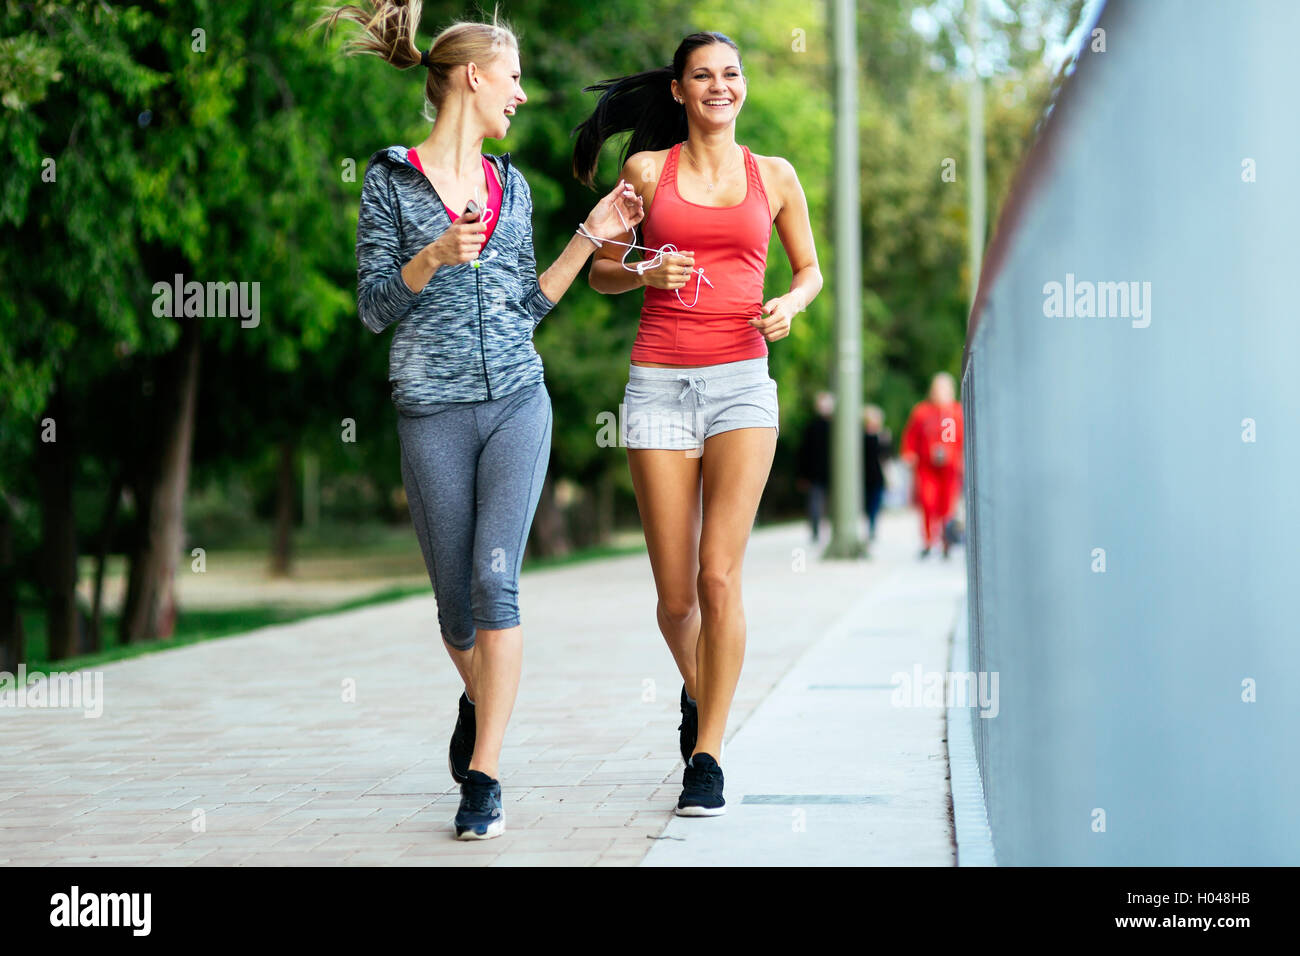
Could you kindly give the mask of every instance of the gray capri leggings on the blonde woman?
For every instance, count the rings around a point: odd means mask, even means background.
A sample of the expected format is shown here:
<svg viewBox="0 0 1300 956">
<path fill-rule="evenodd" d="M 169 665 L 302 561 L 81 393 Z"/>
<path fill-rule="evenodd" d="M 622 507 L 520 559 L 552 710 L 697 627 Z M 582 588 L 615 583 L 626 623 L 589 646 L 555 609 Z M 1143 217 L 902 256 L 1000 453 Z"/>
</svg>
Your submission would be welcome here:
<svg viewBox="0 0 1300 956">
<path fill-rule="evenodd" d="M 551 451 L 545 382 L 486 402 L 398 411 L 402 483 L 442 640 L 519 624 L 519 570 Z"/>
</svg>

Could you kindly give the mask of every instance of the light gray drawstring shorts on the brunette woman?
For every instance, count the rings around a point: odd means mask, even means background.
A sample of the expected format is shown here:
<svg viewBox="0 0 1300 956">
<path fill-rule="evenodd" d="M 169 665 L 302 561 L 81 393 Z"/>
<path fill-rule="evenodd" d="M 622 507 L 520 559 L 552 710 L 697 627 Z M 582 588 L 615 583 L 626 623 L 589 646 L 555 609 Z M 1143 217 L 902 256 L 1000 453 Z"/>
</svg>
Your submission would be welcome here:
<svg viewBox="0 0 1300 956">
<path fill-rule="evenodd" d="M 699 450 L 733 428 L 780 433 L 767 356 L 694 368 L 628 367 L 620 434 L 629 449 Z"/>
</svg>

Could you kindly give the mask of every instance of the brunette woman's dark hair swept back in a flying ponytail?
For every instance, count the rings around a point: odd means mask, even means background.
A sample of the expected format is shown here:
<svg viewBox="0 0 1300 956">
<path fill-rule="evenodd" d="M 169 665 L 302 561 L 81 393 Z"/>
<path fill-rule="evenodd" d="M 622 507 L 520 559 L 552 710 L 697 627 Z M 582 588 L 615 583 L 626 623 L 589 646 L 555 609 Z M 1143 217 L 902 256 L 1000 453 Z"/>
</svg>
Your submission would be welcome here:
<svg viewBox="0 0 1300 956">
<path fill-rule="evenodd" d="M 601 147 L 610 137 L 632 130 L 619 165 L 628 156 L 642 150 L 666 150 L 686 138 L 686 108 L 672 98 L 672 81 L 681 82 L 686 73 L 686 60 L 699 47 L 725 43 L 740 56 L 740 47 L 729 36 L 706 31 L 690 34 L 672 56 L 671 66 L 633 73 L 629 77 L 606 79 L 584 87 L 584 92 L 599 92 L 595 109 L 575 127 L 573 176 L 586 186 L 595 181 L 595 166 L 601 160 Z"/>
</svg>

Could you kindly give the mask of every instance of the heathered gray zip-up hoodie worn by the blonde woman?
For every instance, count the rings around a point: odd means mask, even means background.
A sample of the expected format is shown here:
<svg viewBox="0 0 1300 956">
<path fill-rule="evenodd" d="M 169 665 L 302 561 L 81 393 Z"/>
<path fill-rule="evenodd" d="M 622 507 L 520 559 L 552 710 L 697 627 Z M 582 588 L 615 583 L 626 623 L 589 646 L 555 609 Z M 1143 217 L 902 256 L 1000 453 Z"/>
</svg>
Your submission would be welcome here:
<svg viewBox="0 0 1300 956">
<path fill-rule="evenodd" d="M 356 220 L 356 311 L 370 332 L 396 324 L 389 349 L 393 403 L 482 402 L 542 381 L 533 330 L 555 303 L 537 282 L 533 194 L 510 163 L 488 156 L 503 183 L 500 219 L 480 265 L 442 265 L 419 293 L 402 278 L 421 248 L 451 226 L 407 147 L 365 166 Z"/>
</svg>

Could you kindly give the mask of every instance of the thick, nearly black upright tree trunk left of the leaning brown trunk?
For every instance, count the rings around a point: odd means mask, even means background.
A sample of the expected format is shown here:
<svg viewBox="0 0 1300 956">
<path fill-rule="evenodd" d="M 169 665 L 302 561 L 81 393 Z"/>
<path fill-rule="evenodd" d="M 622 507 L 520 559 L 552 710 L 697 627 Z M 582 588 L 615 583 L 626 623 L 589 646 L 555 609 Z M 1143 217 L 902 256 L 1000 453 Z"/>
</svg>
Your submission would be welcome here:
<svg viewBox="0 0 1300 956">
<path fill-rule="evenodd" d="M 62 389 L 42 416 L 53 421 L 53 440 L 36 441 L 40 484 L 40 583 L 46 596 L 47 656 L 51 661 L 82 653 L 83 622 L 77 606 L 77 515 L 73 507 L 72 421 L 65 414 Z M 44 425 L 42 425 L 42 432 Z"/>
</svg>

